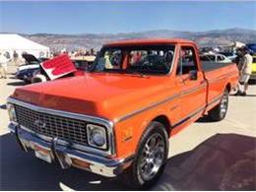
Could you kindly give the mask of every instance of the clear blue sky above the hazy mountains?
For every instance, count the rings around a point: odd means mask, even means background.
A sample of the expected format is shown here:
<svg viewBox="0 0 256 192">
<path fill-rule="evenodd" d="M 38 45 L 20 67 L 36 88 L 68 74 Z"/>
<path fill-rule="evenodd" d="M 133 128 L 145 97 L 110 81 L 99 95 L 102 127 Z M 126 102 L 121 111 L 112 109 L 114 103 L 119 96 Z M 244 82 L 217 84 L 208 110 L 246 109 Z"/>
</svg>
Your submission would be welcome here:
<svg viewBox="0 0 256 192">
<path fill-rule="evenodd" d="M 0 2 L 0 32 L 256 30 L 256 2 Z"/>
</svg>

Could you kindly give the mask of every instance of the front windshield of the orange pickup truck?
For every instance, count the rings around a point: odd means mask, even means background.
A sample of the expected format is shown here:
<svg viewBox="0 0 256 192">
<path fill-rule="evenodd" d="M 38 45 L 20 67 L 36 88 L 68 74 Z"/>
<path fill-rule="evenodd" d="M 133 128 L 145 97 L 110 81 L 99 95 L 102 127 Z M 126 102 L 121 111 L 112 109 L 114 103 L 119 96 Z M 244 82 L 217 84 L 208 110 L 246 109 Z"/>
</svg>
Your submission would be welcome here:
<svg viewBox="0 0 256 192">
<path fill-rule="evenodd" d="M 162 75 L 171 68 L 174 45 L 103 47 L 90 72 Z"/>
</svg>

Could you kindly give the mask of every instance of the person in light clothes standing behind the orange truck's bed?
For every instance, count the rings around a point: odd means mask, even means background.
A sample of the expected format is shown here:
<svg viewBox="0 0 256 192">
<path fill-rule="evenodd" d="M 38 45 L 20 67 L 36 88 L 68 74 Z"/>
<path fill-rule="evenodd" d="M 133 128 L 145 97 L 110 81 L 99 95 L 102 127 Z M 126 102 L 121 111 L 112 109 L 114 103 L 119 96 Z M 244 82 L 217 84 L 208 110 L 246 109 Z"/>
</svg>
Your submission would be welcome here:
<svg viewBox="0 0 256 192">
<path fill-rule="evenodd" d="M 240 69 L 240 80 L 239 80 L 239 90 L 237 95 L 246 96 L 246 92 L 249 87 L 249 79 L 252 73 L 252 56 L 249 54 L 249 50 L 247 48 L 243 48 L 242 50 L 243 58 L 242 65 Z"/>
</svg>

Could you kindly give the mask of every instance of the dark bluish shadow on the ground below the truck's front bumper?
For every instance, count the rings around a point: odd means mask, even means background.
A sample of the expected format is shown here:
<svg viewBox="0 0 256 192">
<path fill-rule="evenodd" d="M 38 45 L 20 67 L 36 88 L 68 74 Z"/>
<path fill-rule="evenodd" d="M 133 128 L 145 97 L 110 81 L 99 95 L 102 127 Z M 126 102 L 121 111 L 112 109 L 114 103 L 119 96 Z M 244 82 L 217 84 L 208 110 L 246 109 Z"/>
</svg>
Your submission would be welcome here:
<svg viewBox="0 0 256 192">
<path fill-rule="evenodd" d="M 125 190 L 116 179 L 76 169 L 61 169 L 21 151 L 14 135 L 0 137 L 0 190 L 63 190 L 65 185 L 74 190 Z"/>
</svg>

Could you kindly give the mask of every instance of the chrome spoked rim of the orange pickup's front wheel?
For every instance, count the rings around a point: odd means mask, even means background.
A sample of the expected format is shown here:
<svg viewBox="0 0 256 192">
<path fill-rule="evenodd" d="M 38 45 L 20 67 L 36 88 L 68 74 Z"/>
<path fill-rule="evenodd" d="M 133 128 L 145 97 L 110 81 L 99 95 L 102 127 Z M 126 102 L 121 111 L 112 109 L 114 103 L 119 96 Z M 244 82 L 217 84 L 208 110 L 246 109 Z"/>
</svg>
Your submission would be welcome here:
<svg viewBox="0 0 256 192">
<path fill-rule="evenodd" d="M 157 175 L 164 160 L 165 150 L 164 139 L 159 133 L 148 138 L 138 163 L 138 173 L 144 181 L 149 181 Z"/>
</svg>

